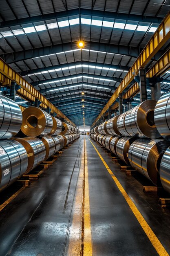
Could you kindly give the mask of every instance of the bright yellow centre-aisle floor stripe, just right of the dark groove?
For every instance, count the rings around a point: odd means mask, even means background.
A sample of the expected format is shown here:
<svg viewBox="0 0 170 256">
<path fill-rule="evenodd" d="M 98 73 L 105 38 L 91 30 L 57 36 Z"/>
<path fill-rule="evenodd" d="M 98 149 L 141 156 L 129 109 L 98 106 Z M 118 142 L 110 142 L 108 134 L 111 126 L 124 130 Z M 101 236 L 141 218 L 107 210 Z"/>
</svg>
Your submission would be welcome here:
<svg viewBox="0 0 170 256">
<path fill-rule="evenodd" d="M 90 216 L 90 200 L 88 186 L 88 165 L 87 151 L 85 141 L 85 202 L 84 202 L 84 256 L 92 256 L 92 240 L 91 240 L 91 216 Z"/>
</svg>

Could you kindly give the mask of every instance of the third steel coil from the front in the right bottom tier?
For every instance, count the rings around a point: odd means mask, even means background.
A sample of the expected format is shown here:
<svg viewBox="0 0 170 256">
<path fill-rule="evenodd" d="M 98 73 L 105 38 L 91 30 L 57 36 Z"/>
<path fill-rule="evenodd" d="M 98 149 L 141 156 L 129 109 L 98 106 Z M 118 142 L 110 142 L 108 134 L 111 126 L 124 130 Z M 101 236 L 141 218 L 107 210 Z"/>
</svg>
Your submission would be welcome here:
<svg viewBox="0 0 170 256">
<path fill-rule="evenodd" d="M 135 137 L 121 137 L 116 144 L 116 154 L 126 164 L 130 164 L 128 159 L 128 150 L 130 145 L 135 141 Z"/>
</svg>

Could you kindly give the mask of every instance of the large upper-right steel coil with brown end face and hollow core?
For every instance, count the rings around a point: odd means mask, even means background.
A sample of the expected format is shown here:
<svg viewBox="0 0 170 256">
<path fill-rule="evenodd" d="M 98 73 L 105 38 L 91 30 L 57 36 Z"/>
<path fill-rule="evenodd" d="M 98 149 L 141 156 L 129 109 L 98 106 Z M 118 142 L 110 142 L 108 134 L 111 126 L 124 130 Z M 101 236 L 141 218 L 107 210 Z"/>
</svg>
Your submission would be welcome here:
<svg viewBox="0 0 170 256">
<path fill-rule="evenodd" d="M 160 134 L 154 121 L 154 109 L 157 101 L 146 100 L 135 108 L 121 114 L 117 128 L 124 136 L 156 139 Z"/>
</svg>

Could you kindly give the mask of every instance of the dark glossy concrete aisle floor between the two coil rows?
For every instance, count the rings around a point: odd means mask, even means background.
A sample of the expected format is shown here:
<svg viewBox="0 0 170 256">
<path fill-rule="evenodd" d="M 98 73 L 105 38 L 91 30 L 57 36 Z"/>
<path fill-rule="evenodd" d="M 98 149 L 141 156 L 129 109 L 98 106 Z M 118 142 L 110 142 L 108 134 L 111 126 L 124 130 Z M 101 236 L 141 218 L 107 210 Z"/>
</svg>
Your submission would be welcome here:
<svg viewBox="0 0 170 256">
<path fill-rule="evenodd" d="M 142 185 L 149 185 L 144 177 L 126 176 L 93 144 L 170 254 L 170 210 L 159 206 L 159 195 L 143 192 Z M 0 203 L 17 189 L 13 184 L 3 191 Z M 161 255 L 89 136 L 81 136 L 64 150 L 39 180 L 7 204 L 0 211 L 0 223 L 0 256 Z"/>
</svg>

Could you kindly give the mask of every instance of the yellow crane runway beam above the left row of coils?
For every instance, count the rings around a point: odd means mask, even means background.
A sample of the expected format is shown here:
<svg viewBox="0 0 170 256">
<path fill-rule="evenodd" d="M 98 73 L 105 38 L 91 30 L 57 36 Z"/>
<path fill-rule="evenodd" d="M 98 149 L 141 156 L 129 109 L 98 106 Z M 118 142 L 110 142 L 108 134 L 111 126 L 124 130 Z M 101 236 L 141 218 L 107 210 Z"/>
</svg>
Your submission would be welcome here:
<svg viewBox="0 0 170 256">
<path fill-rule="evenodd" d="M 44 97 L 38 90 L 36 90 L 30 83 L 28 83 L 22 76 L 20 76 L 15 70 L 13 70 L 5 61 L 0 58 L 0 82 L 3 84 L 9 84 L 11 81 L 15 81 L 21 88 L 16 92 L 20 97 L 27 99 L 28 101 L 35 101 L 38 99 L 41 101 L 40 106 L 42 108 L 50 108 L 57 114 L 57 117 L 62 117 L 70 122 L 73 126 L 75 124 L 68 119 L 59 109 L 57 109 L 46 97 Z"/>
</svg>

